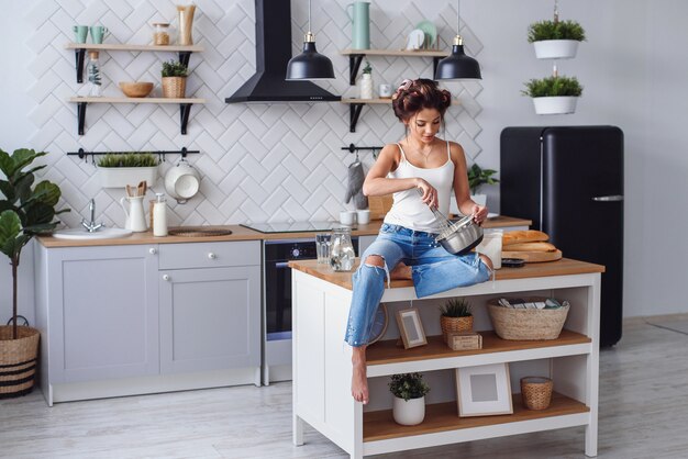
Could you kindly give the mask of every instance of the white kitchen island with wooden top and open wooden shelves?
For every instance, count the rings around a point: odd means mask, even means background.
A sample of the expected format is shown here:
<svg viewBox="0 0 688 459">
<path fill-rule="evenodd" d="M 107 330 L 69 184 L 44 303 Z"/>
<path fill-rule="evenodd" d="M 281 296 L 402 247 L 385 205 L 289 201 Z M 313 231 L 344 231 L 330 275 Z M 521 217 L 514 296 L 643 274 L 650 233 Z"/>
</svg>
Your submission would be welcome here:
<svg viewBox="0 0 688 459">
<path fill-rule="evenodd" d="M 370 403 L 351 396 L 351 348 L 344 332 L 352 298 L 351 273 L 332 272 L 313 261 L 292 261 L 293 292 L 293 443 L 303 444 L 304 423 L 325 435 L 352 458 L 414 448 L 495 438 L 515 434 L 585 427 L 585 454 L 597 456 L 599 295 L 604 268 L 570 259 L 502 268 L 497 280 L 454 289 L 417 300 L 407 281 L 392 281 L 382 302 L 390 311 L 382 340 L 368 347 L 367 377 Z M 566 299 L 572 307 L 557 339 L 503 340 L 490 329 L 486 303 L 513 295 Z M 437 302 L 467 296 L 474 305 L 475 329 L 484 336 L 480 350 L 451 350 L 439 335 Z M 421 311 L 429 344 L 404 350 L 393 311 L 409 306 Z M 434 303 L 433 303 L 434 302 Z M 513 414 L 458 417 L 454 370 L 488 363 L 508 363 Z M 420 371 L 431 385 L 426 415 L 418 426 L 392 419 L 392 396 L 387 388 L 396 373 Z M 548 376 L 555 394 L 550 407 L 526 410 L 519 379 Z M 544 374 L 543 374 L 544 373 Z M 533 445 L 536 447 L 536 445 Z"/>
</svg>

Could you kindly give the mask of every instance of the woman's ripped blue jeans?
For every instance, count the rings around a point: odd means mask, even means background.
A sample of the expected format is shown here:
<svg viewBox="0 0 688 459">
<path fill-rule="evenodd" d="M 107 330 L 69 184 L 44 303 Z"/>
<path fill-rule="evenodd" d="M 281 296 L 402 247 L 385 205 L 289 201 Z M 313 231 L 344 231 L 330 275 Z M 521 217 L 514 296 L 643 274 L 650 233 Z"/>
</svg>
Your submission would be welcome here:
<svg viewBox="0 0 688 459">
<path fill-rule="evenodd" d="M 370 255 L 384 258 L 385 267 L 365 262 Z M 485 282 L 489 268 L 475 251 L 450 254 L 435 242 L 435 235 L 384 223 L 373 244 L 360 256 L 353 276 L 353 296 L 344 339 L 351 346 L 368 343 L 375 313 L 385 292 L 385 280 L 399 261 L 411 267 L 418 298 L 430 296 L 457 287 Z"/>
</svg>

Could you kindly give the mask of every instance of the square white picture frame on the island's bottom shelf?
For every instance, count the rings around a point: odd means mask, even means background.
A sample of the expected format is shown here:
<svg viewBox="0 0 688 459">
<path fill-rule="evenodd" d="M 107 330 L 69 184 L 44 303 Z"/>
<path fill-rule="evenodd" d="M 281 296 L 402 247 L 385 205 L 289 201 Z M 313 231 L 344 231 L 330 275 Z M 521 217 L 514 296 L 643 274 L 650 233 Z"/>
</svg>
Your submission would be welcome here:
<svg viewBox="0 0 688 459">
<path fill-rule="evenodd" d="M 513 414 L 509 363 L 456 369 L 458 417 Z"/>
</svg>

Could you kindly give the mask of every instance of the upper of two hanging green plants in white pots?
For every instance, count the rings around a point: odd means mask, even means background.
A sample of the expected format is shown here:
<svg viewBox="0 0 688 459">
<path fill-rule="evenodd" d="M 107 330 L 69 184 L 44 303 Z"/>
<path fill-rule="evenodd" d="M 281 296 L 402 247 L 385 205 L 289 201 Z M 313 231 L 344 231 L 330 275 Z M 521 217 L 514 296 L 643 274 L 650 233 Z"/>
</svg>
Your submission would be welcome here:
<svg viewBox="0 0 688 459">
<path fill-rule="evenodd" d="M 528 42 L 539 59 L 569 59 L 576 57 L 578 44 L 586 32 L 576 21 L 540 21 L 528 27 Z"/>
</svg>

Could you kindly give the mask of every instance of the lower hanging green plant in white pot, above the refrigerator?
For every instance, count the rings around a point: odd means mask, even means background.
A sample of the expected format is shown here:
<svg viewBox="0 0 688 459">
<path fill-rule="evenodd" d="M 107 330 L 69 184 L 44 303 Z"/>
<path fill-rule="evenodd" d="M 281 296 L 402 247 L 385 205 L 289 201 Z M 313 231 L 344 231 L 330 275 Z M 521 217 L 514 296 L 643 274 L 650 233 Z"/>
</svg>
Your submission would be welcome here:
<svg viewBox="0 0 688 459">
<path fill-rule="evenodd" d="M 523 96 L 533 98 L 535 113 L 565 114 L 576 111 L 582 87 L 576 77 L 552 76 L 525 82 Z"/>
</svg>

